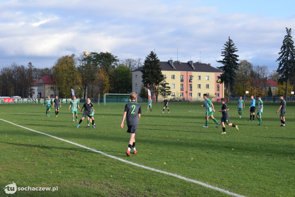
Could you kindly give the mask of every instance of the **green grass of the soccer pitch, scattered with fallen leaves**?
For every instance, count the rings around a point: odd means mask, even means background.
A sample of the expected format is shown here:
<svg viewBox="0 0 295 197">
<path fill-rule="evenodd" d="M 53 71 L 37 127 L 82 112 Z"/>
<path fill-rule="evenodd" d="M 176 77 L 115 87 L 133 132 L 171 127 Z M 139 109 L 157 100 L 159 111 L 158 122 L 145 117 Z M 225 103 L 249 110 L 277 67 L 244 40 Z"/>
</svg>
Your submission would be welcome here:
<svg viewBox="0 0 295 197">
<path fill-rule="evenodd" d="M 201 103 L 200 103 L 201 104 Z M 198 105 L 153 103 L 152 113 L 142 116 L 137 130 L 137 155 L 127 157 L 130 134 L 121 129 L 124 104 L 96 105 L 96 129 L 87 121 L 76 128 L 68 105 L 58 117 L 39 104 L 0 105 L 0 118 L 44 132 L 140 165 L 174 173 L 244 196 L 295 196 L 294 106 L 287 106 L 286 127 L 276 114 L 278 106 L 265 106 L 262 126 L 242 118 L 229 105 L 230 121 L 239 132 L 209 119 Z M 247 106 L 246 106 L 247 107 Z M 214 104 L 216 111 L 220 104 Z M 82 113 L 78 114 L 81 118 Z M 220 121 L 221 114 L 214 113 Z M 0 186 L 56 187 L 58 191 L 17 191 L 17 196 L 228 196 L 201 185 L 101 155 L 0 120 Z M 126 122 L 125 122 L 125 125 Z M 37 165 L 36 165 L 37 164 Z M 4 190 L 0 196 L 8 196 Z"/>
</svg>

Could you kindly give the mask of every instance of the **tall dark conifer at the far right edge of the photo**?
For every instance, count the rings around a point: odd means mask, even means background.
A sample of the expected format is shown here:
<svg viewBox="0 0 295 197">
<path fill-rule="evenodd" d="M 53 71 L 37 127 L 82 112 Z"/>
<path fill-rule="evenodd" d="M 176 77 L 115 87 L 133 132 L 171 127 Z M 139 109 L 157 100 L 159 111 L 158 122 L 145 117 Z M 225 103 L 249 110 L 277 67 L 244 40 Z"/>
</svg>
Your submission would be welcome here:
<svg viewBox="0 0 295 197">
<path fill-rule="evenodd" d="M 295 49 L 294 41 L 291 36 L 291 28 L 288 29 L 286 27 L 286 32 L 287 35 L 284 37 L 281 51 L 278 53 L 280 57 L 276 60 L 279 61 L 278 74 L 280 75 L 280 78 L 286 82 L 285 98 L 287 98 L 288 92 L 288 79 L 295 71 Z"/>
</svg>

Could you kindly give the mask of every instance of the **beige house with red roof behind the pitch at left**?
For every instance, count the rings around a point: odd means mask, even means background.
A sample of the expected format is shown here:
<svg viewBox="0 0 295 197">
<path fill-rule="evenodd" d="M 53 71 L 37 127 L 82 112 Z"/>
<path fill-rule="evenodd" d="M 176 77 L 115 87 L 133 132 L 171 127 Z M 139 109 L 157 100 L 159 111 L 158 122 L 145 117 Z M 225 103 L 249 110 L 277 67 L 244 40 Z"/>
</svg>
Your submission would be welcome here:
<svg viewBox="0 0 295 197">
<path fill-rule="evenodd" d="M 44 76 L 39 79 L 38 87 L 38 97 L 46 98 L 47 96 L 54 97 L 56 95 L 54 88 L 53 78 L 51 76 Z"/>
</svg>

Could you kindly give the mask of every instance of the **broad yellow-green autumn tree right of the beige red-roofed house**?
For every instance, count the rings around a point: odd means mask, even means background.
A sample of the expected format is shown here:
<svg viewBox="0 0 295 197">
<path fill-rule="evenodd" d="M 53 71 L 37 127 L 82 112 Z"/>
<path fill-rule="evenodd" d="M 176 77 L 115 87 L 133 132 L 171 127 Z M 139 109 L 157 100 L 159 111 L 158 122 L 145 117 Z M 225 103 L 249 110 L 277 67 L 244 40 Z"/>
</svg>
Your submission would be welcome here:
<svg viewBox="0 0 295 197">
<path fill-rule="evenodd" d="M 75 54 L 58 58 L 53 66 L 53 80 L 56 82 L 59 97 L 69 98 L 72 96 L 71 88 L 79 92 L 81 87 L 81 75 L 76 68 Z"/>
</svg>

